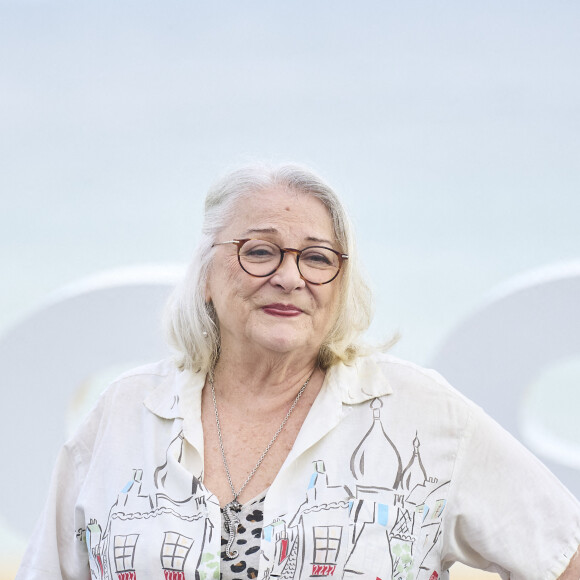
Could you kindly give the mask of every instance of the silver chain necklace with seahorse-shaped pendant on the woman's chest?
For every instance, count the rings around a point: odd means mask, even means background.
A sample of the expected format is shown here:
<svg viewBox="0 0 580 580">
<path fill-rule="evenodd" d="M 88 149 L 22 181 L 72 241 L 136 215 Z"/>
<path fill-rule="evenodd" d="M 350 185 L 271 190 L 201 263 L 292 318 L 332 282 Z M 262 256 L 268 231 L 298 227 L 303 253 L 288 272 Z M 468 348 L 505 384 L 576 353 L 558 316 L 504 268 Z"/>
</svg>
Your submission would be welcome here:
<svg viewBox="0 0 580 580">
<path fill-rule="evenodd" d="M 252 477 L 254 477 L 254 474 L 256 473 L 256 471 L 258 471 L 258 468 L 260 467 L 260 465 L 262 465 L 262 461 L 264 461 L 264 458 L 266 457 L 268 451 L 270 451 L 272 445 L 274 445 L 274 442 L 276 441 L 276 439 L 278 439 L 278 435 L 280 435 L 280 433 L 282 433 L 282 429 L 284 429 L 284 426 L 288 422 L 288 419 L 290 418 L 292 411 L 294 411 L 294 408 L 298 404 L 298 401 L 300 400 L 302 393 L 305 391 L 306 387 L 308 386 L 308 383 L 310 382 L 310 379 L 312 378 L 313 374 L 314 374 L 314 371 L 312 371 L 310 373 L 310 376 L 306 379 L 306 382 L 302 385 L 301 389 L 298 391 L 298 394 L 296 395 L 296 398 L 294 399 L 294 402 L 292 403 L 292 405 L 290 405 L 290 408 L 288 409 L 286 416 L 282 420 L 280 427 L 278 427 L 278 430 L 276 431 L 276 433 L 274 433 L 274 437 L 272 437 L 272 439 L 270 440 L 270 443 L 268 443 L 268 445 L 266 445 L 266 449 L 264 449 L 264 451 L 262 452 L 262 455 L 260 455 L 260 459 L 258 459 L 258 462 L 256 463 L 256 465 L 254 465 L 254 468 L 252 469 L 252 471 L 250 471 L 250 473 L 248 474 L 248 477 L 246 477 L 246 481 L 244 481 L 244 483 L 242 484 L 242 487 L 240 487 L 240 489 L 238 490 L 237 493 L 236 493 L 236 488 L 234 487 L 234 482 L 232 481 L 232 476 L 230 474 L 230 468 L 228 467 L 228 461 L 226 459 L 226 452 L 224 449 L 224 442 L 222 440 L 222 430 L 220 427 L 220 418 L 219 418 L 219 414 L 218 414 L 218 410 L 217 410 L 217 401 L 215 398 L 215 388 L 213 386 L 213 372 L 211 372 L 209 375 L 209 384 L 211 387 L 211 396 L 213 399 L 213 410 L 215 412 L 215 424 L 217 426 L 217 431 L 218 431 L 218 439 L 219 439 L 219 443 L 220 443 L 220 450 L 222 452 L 222 460 L 224 462 L 224 467 L 226 469 L 226 476 L 228 478 L 228 483 L 230 484 L 230 489 L 232 490 L 232 494 L 234 496 L 232 501 L 224 506 L 224 526 L 226 528 L 226 531 L 229 534 L 229 540 L 228 540 L 228 543 L 226 546 L 226 556 L 228 558 L 235 558 L 238 555 L 237 550 L 232 550 L 232 546 L 233 546 L 234 541 L 236 539 L 236 534 L 238 533 L 238 526 L 241 523 L 240 518 L 237 516 L 238 512 L 240 511 L 240 509 L 242 507 L 241 504 L 238 502 L 238 497 L 242 493 L 242 491 L 244 491 L 246 485 L 248 485 L 248 483 L 250 482 Z"/>
</svg>

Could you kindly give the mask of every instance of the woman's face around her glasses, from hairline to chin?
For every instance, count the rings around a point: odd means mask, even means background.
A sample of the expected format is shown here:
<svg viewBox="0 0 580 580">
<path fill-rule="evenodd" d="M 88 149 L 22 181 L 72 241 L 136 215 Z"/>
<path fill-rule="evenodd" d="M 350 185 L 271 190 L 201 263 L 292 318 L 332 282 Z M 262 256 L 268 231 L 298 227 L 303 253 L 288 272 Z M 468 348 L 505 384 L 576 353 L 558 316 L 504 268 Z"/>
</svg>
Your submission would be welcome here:
<svg viewBox="0 0 580 580">
<path fill-rule="evenodd" d="M 256 192 L 238 202 L 234 216 L 218 242 L 258 238 L 282 248 L 341 250 L 328 210 L 308 195 L 282 188 Z M 340 276 L 322 286 L 309 284 L 300 278 L 296 257 L 286 254 L 276 272 L 256 278 L 240 267 L 235 244 L 216 246 L 206 299 L 217 313 L 222 353 L 242 347 L 248 353 L 315 356 L 337 315 Z"/>
</svg>

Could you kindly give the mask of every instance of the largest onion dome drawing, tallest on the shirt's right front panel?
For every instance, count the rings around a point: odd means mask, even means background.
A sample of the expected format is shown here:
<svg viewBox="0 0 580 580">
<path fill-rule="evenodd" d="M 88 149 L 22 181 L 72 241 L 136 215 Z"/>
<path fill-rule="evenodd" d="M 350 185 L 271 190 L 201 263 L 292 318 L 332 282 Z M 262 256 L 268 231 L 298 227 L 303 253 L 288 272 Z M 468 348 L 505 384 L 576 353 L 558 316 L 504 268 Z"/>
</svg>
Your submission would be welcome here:
<svg viewBox="0 0 580 580">
<path fill-rule="evenodd" d="M 382 406 L 381 399 L 371 401 L 373 422 L 352 454 L 350 470 L 355 479 L 364 485 L 395 489 L 401 477 L 401 456 L 383 428 Z"/>
</svg>

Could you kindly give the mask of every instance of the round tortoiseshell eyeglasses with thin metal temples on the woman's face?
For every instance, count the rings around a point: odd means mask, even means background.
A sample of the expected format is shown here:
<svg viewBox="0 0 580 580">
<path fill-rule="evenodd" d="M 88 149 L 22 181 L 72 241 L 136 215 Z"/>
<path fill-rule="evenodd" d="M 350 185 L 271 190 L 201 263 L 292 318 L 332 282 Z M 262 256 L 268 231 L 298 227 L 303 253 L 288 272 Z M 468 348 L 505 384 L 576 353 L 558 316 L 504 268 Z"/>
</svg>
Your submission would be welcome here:
<svg viewBox="0 0 580 580">
<path fill-rule="evenodd" d="M 224 244 L 235 244 L 238 247 L 238 262 L 242 270 L 256 278 L 270 276 L 281 266 L 284 254 L 294 254 L 300 277 L 319 286 L 332 282 L 338 276 L 343 260 L 348 259 L 347 254 L 325 246 L 308 246 L 296 250 L 253 239 L 217 242 L 212 247 Z"/>
</svg>

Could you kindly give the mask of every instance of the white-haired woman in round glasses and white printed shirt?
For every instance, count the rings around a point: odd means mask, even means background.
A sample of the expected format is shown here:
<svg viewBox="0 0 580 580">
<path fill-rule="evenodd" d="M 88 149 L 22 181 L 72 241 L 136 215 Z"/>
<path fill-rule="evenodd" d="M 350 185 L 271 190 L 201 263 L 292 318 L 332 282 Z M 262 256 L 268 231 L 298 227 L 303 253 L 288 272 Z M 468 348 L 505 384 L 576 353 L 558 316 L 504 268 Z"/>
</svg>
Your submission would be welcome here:
<svg viewBox="0 0 580 580">
<path fill-rule="evenodd" d="M 578 579 L 580 507 L 439 375 L 360 344 L 332 189 L 251 166 L 210 191 L 168 307 L 59 457 L 19 580 Z"/>
</svg>

